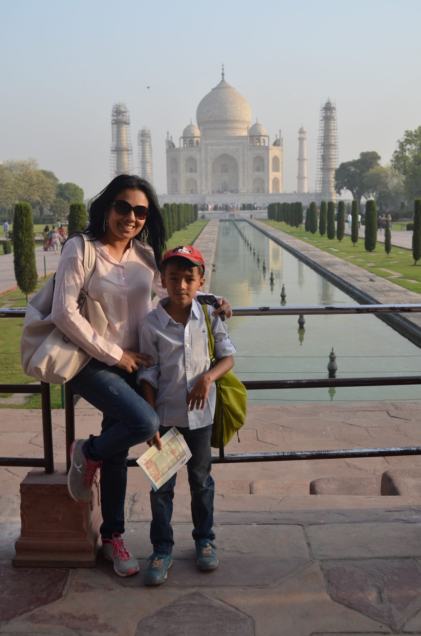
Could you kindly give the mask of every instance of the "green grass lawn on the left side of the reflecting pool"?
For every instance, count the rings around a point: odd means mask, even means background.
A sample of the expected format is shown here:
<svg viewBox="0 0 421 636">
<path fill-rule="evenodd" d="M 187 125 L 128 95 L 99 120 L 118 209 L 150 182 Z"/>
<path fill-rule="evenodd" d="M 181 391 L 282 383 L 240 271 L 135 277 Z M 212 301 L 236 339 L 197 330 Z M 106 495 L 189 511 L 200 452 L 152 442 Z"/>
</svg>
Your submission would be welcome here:
<svg viewBox="0 0 421 636">
<path fill-rule="evenodd" d="M 191 245 L 195 242 L 200 232 L 207 224 L 208 219 L 198 219 L 191 223 L 185 230 L 174 232 L 167 247 L 176 245 Z M 1 226 L 3 230 L 3 225 Z M 47 282 L 43 279 L 38 283 L 38 289 Z M 26 307 L 25 294 L 20 289 L 0 295 L 0 307 L 18 308 Z M 25 375 L 20 366 L 20 335 L 22 332 L 23 318 L 0 318 L 0 384 L 28 384 L 35 382 L 34 378 Z M 9 397 L 10 394 L 0 394 L 0 397 Z M 61 389 L 59 385 L 51 385 L 52 408 L 61 408 Z M 41 408 L 41 396 L 34 394 L 25 404 L 0 404 L 0 408 Z"/>
</svg>

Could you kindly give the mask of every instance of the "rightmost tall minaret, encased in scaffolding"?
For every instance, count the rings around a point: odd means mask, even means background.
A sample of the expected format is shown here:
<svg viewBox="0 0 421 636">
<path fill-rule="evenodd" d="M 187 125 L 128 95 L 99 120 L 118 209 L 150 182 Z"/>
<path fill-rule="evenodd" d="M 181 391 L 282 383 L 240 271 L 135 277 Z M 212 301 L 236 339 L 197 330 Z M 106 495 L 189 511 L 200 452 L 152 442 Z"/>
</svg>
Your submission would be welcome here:
<svg viewBox="0 0 421 636">
<path fill-rule="evenodd" d="M 323 141 L 321 144 L 321 195 L 326 201 L 335 201 L 336 106 L 328 99 L 322 107 Z"/>
</svg>

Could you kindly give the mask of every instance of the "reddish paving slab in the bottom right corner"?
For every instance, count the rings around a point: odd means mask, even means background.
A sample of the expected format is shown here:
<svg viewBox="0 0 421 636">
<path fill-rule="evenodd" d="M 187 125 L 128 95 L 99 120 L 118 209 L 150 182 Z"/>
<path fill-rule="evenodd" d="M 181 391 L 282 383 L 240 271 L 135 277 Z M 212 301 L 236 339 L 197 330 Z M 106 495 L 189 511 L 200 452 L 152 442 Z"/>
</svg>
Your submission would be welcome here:
<svg viewBox="0 0 421 636">
<path fill-rule="evenodd" d="M 329 595 L 392 629 L 421 609 L 421 567 L 414 559 L 324 562 Z"/>
</svg>

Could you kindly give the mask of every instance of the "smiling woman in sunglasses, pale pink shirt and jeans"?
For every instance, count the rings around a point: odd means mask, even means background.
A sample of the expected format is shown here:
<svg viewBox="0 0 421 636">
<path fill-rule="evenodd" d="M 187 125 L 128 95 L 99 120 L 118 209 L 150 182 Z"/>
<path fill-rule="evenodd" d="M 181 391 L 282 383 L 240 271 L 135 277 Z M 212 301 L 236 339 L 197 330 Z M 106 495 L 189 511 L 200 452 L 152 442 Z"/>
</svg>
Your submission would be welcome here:
<svg viewBox="0 0 421 636">
<path fill-rule="evenodd" d="M 67 239 L 57 268 L 52 321 L 72 342 L 92 356 L 69 382 L 75 393 L 102 411 L 102 431 L 76 439 L 71 448 L 69 492 L 76 501 L 90 501 L 95 471 L 101 467 L 102 553 L 120 576 L 139 570 L 126 550 L 124 504 L 130 446 L 153 438 L 159 421 L 139 395 L 137 327 L 151 310 L 151 287 L 162 298 L 158 264 L 165 251 L 165 226 L 155 190 L 137 176 L 120 175 L 90 202 L 86 230 L 95 245 L 95 271 L 88 293 L 98 300 L 108 320 L 104 337 L 92 329 L 78 309 L 85 273 L 83 239 Z M 146 243 L 148 242 L 148 244 Z M 216 313 L 230 305 L 220 299 Z"/>
</svg>

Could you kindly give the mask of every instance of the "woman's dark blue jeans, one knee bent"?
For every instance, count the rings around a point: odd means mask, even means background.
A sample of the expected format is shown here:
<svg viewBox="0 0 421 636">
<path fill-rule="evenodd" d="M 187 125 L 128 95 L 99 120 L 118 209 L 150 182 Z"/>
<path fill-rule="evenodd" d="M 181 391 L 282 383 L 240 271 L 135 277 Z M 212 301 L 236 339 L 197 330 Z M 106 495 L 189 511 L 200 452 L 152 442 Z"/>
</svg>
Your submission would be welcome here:
<svg viewBox="0 0 421 636">
<path fill-rule="evenodd" d="M 91 435 L 83 452 L 89 459 L 102 460 L 100 533 L 111 539 L 114 532 L 124 532 L 128 449 L 153 438 L 159 419 L 139 395 L 135 373 L 92 358 L 69 385 L 104 416 L 101 434 Z"/>
</svg>

